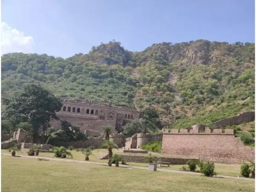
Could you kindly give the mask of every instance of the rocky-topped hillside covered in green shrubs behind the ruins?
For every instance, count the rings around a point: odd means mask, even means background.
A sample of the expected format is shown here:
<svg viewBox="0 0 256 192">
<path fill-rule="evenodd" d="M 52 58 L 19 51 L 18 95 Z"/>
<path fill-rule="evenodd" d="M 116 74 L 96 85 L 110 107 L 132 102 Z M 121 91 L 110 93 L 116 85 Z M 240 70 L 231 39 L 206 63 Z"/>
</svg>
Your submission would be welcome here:
<svg viewBox="0 0 256 192">
<path fill-rule="evenodd" d="M 37 82 L 56 96 L 141 110 L 155 107 L 165 127 L 207 124 L 254 109 L 253 43 L 197 40 L 153 44 L 141 52 L 120 42 L 70 58 L 2 56 L 2 97 Z"/>
</svg>

